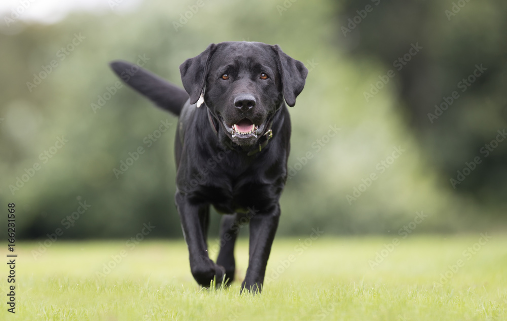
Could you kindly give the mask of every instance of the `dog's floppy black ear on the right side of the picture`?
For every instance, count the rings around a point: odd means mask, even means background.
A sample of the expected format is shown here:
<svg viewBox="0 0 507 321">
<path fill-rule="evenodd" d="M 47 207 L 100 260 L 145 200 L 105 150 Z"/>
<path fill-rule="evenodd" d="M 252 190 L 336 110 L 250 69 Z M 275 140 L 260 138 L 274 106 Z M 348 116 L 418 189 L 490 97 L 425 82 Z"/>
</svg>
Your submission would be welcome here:
<svg viewBox="0 0 507 321">
<path fill-rule="evenodd" d="M 283 97 L 287 105 L 294 107 L 296 104 L 296 97 L 298 97 L 305 87 L 308 69 L 301 61 L 285 54 L 278 45 L 274 45 L 273 47 L 278 54 Z"/>
</svg>

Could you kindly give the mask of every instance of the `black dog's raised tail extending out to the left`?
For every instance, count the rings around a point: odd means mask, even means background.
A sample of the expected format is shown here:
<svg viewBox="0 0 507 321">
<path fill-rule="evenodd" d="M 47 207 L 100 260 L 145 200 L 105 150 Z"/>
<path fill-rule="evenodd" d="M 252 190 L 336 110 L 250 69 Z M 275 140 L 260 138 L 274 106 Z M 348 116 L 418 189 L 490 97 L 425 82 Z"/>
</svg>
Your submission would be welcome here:
<svg viewBox="0 0 507 321">
<path fill-rule="evenodd" d="M 179 116 L 183 105 L 189 99 L 184 89 L 169 84 L 138 65 L 120 60 L 113 61 L 110 65 L 125 84 L 176 116 Z"/>
</svg>

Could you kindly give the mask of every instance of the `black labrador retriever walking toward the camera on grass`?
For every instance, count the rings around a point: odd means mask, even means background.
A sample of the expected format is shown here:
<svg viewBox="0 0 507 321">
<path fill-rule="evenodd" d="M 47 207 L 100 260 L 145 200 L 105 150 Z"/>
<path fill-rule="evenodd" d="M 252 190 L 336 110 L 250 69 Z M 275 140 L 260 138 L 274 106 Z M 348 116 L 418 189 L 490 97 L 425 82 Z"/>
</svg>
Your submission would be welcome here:
<svg viewBox="0 0 507 321">
<path fill-rule="evenodd" d="M 296 104 L 307 68 L 277 45 L 256 42 L 211 44 L 187 59 L 179 66 L 186 91 L 137 65 L 111 66 L 126 84 L 179 116 L 175 201 L 195 280 L 204 287 L 213 279 L 216 285 L 233 280 L 234 243 L 247 221 L 249 262 L 241 289 L 261 291 L 287 178 L 285 102 Z M 210 205 L 226 214 L 216 263 L 206 245 Z"/>
</svg>

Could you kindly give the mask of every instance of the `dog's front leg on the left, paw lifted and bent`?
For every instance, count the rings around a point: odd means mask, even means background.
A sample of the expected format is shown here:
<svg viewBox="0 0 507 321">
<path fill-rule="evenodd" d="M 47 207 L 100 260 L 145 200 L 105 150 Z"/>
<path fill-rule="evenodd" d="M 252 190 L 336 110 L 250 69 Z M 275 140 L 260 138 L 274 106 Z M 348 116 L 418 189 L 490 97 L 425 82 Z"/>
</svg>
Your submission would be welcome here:
<svg viewBox="0 0 507 321">
<path fill-rule="evenodd" d="M 216 277 L 216 286 L 220 286 L 225 275 L 225 269 L 216 265 L 208 256 L 206 245 L 207 216 L 209 205 L 194 205 L 188 196 L 176 193 L 176 206 L 182 221 L 185 241 L 189 248 L 190 270 L 197 283 L 209 287 L 211 280 Z"/>
</svg>

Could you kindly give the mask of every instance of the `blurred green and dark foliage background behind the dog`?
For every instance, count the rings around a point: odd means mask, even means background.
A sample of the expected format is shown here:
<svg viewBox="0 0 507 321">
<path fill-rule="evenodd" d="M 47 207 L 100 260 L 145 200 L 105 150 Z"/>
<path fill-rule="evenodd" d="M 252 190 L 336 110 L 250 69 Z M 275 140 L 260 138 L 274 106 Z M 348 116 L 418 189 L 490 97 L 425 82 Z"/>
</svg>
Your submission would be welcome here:
<svg viewBox="0 0 507 321">
<path fill-rule="evenodd" d="M 449 15 L 453 4 L 459 11 Z M 48 11 L 51 23 L 21 15 L 7 26 L 18 6 L 0 13 L 0 197 L 4 206 L 16 203 L 18 237 L 43 238 L 59 227 L 66 238 L 130 237 L 145 222 L 156 226 L 150 236 L 182 236 L 173 198 L 177 119 L 129 88 L 108 96 L 118 79 L 107 64 L 144 56 L 144 68 L 181 85 L 179 64 L 223 41 L 279 44 L 310 70 L 290 109 L 288 164 L 299 170 L 281 199 L 279 234 L 312 227 L 397 234 L 416 212 L 428 216 L 416 232 L 505 227 L 507 142 L 487 157 L 480 152 L 507 123 L 501 0 L 104 0 L 68 14 Z M 44 4 L 31 6 L 26 17 Z M 81 43 L 60 60 L 76 34 Z M 413 44 L 422 49 L 398 70 L 393 62 Z M 58 65 L 30 92 L 26 83 L 53 59 Z M 481 64 L 487 70 L 431 123 L 434 105 Z M 367 101 L 365 92 L 389 69 L 394 76 Z M 105 104 L 94 111 L 100 99 Z M 171 128 L 148 147 L 143 139 L 166 119 Z M 340 130 L 328 139 L 329 126 Z M 57 137 L 68 142 L 41 158 Z M 146 152 L 117 179 L 113 169 L 139 146 Z M 405 151 L 380 171 L 399 146 Z M 476 156 L 482 163 L 453 188 L 450 179 Z M 13 190 L 34 163 L 41 169 Z M 378 179 L 370 183 L 372 173 Z M 355 188 L 363 191 L 347 199 Z M 65 229 L 85 201 L 91 207 Z M 219 219 L 212 215 L 211 235 Z"/>
</svg>

